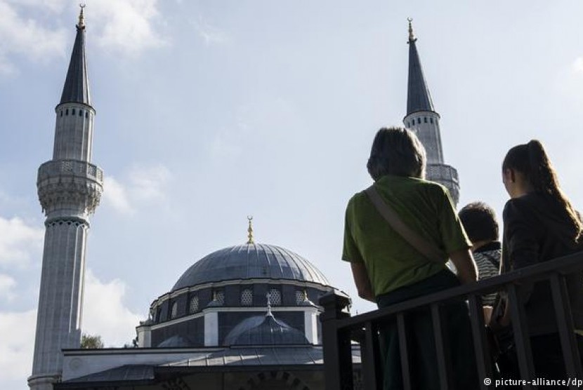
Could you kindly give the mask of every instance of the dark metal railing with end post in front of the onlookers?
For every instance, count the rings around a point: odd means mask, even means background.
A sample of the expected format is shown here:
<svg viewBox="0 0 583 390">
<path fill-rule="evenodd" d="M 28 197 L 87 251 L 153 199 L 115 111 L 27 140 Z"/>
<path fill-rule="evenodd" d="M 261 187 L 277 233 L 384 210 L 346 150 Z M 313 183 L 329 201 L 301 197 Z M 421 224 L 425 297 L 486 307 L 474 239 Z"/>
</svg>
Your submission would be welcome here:
<svg viewBox="0 0 583 390">
<path fill-rule="evenodd" d="M 528 379 L 523 382 L 523 389 L 535 389 L 535 384 L 530 382 L 530 380 L 535 379 L 535 370 L 532 362 L 525 309 L 522 297 L 518 292 L 518 285 L 520 283 L 532 283 L 544 280 L 549 281 L 551 288 L 554 316 L 558 325 L 558 334 L 561 339 L 561 348 L 563 350 L 567 375 L 573 379 L 583 379 L 579 351 L 575 340 L 570 300 L 565 283 L 566 275 L 582 269 L 583 252 L 575 253 L 574 255 L 560 257 L 532 267 L 525 267 L 504 275 L 495 276 L 494 278 L 479 281 L 478 283 L 460 285 L 459 287 L 442 290 L 405 302 L 399 302 L 390 307 L 353 317 L 344 310 L 350 303 L 348 296 L 343 295 L 339 291 L 329 292 L 320 298 L 320 304 L 324 307 L 324 313 L 320 315 L 320 321 L 322 321 L 326 389 L 353 389 L 353 364 L 351 361 L 351 343 L 353 340 L 360 343 L 362 378 L 365 389 L 374 390 L 382 388 L 383 375 L 381 369 L 379 328 L 383 323 L 387 323 L 388 321 L 396 321 L 403 388 L 405 390 L 411 389 L 412 378 L 409 348 L 407 347 L 406 341 L 407 329 L 405 327 L 405 315 L 407 312 L 421 307 L 431 309 L 433 337 L 435 337 L 435 349 L 438 354 L 437 362 L 440 389 L 452 389 L 451 380 L 454 373 L 451 372 L 451 362 L 445 348 L 440 307 L 445 302 L 455 299 L 459 300 L 460 298 L 465 299 L 469 307 L 480 388 L 492 388 L 485 384 L 485 379 L 492 379 L 494 372 L 490 355 L 490 345 L 487 342 L 484 324 L 482 295 L 502 290 L 506 290 L 509 297 L 511 326 L 516 346 L 520 377 L 522 379 Z M 551 315 L 553 314 L 549 313 L 549 316 Z M 578 387 L 576 384 L 571 383 L 568 388 L 577 389 Z"/>
</svg>

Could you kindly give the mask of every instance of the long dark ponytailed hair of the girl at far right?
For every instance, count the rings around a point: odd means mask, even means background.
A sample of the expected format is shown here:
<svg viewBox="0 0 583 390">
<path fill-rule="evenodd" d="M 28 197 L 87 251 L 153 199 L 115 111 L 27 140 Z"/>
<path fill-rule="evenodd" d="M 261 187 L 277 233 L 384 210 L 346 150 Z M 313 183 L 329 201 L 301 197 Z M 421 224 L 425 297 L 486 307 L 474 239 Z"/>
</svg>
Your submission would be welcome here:
<svg viewBox="0 0 583 390">
<path fill-rule="evenodd" d="M 539 140 L 531 140 L 528 144 L 520 144 L 510 149 L 502 163 L 502 170 L 506 169 L 518 170 L 525 175 L 536 192 L 556 199 L 575 228 L 575 241 L 579 241 L 583 231 L 581 218 L 561 190 L 556 171 Z"/>
</svg>

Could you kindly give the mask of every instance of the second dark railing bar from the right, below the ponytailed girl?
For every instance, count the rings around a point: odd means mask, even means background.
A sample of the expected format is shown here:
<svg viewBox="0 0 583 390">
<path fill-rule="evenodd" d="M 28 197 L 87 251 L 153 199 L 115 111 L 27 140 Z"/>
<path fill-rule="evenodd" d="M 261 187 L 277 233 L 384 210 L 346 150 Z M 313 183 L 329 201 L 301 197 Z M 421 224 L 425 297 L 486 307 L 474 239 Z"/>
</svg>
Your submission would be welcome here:
<svg viewBox="0 0 583 390">
<path fill-rule="evenodd" d="M 512 330 L 514 332 L 514 342 L 516 344 L 516 354 L 518 355 L 518 367 L 520 377 L 529 379 L 535 377 L 535 370 L 532 365 L 532 351 L 530 349 L 530 339 L 526 323 L 523 302 L 516 285 L 508 286 L 508 304 L 512 320 Z M 525 382 L 523 389 L 533 389 L 532 384 Z"/>
</svg>

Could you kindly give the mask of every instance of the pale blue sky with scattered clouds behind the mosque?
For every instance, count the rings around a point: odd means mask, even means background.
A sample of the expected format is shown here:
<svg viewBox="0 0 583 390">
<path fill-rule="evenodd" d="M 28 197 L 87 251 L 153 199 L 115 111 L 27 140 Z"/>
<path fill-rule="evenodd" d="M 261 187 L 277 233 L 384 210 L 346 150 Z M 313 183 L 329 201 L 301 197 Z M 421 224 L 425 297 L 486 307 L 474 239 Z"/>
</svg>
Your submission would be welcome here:
<svg viewBox="0 0 583 390">
<path fill-rule="evenodd" d="M 0 383 L 27 389 L 44 215 L 79 1 L 0 0 Z M 105 171 L 91 217 L 83 330 L 122 346 L 150 303 L 205 255 L 283 246 L 358 298 L 341 262 L 346 202 L 371 183 L 382 126 L 401 125 L 407 17 L 459 206 L 508 196 L 506 151 L 541 140 L 583 204 L 580 1 L 86 0 Z"/>
</svg>

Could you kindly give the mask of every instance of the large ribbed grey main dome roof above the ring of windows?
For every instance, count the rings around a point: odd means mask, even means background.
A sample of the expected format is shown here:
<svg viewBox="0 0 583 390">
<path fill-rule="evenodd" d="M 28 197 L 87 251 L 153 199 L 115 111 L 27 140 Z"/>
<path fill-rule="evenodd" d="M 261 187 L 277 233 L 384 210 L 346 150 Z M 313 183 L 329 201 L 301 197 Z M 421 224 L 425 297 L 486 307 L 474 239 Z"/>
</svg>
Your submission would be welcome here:
<svg viewBox="0 0 583 390">
<path fill-rule="evenodd" d="M 192 264 L 172 291 L 232 279 L 289 279 L 329 285 L 308 260 L 279 246 L 251 243 L 217 250 Z"/>
</svg>

